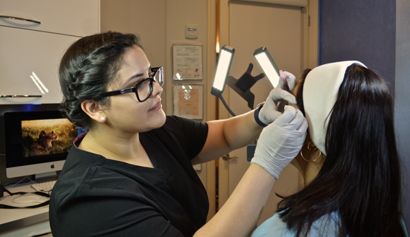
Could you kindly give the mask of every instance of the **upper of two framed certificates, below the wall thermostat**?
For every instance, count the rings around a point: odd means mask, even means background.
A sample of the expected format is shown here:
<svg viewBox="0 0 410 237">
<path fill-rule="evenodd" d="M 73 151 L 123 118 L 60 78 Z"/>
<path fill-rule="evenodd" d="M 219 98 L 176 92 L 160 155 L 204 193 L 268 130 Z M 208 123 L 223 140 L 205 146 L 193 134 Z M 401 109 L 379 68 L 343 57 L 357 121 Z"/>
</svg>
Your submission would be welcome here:
<svg viewBox="0 0 410 237">
<path fill-rule="evenodd" d="M 203 79 L 202 48 L 202 44 L 172 44 L 172 79 Z"/>
</svg>

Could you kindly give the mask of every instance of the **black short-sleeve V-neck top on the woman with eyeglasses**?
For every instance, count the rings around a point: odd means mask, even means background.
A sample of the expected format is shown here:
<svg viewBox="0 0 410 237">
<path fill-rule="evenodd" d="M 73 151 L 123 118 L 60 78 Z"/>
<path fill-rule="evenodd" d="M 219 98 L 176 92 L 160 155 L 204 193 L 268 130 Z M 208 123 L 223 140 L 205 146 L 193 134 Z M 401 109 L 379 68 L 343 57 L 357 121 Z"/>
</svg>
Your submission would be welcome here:
<svg viewBox="0 0 410 237">
<path fill-rule="evenodd" d="M 209 203 L 190 160 L 203 148 L 207 124 L 167 116 L 140 133 L 154 168 L 107 159 L 75 141 L 51 193 L 53 236 L 192 236 Z"/>
</svg>

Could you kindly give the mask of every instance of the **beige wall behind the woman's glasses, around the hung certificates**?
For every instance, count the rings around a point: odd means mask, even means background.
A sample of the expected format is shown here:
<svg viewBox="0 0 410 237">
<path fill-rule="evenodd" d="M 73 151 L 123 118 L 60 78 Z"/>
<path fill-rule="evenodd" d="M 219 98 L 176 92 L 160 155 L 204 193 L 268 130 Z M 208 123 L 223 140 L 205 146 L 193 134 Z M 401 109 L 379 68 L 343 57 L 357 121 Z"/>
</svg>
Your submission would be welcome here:
<svg viewBox="0 0 410 237">
<path fill-rule="evenodd" d="M 198 25 L 198 38 L 185 38 L 185 25 Z M 207 113 L 207 0 L 101 0 L 101 31 L 136 33 L 151 62 L 164 66 L 165 83 L 162 104 L 166 115 L 172 115 L 172 44 L 203 44 L 203 80 L 183 81 L 204 85 L 203 120 Z M 207 165 L 197 171 L 205 186 Z"/>
</svg>

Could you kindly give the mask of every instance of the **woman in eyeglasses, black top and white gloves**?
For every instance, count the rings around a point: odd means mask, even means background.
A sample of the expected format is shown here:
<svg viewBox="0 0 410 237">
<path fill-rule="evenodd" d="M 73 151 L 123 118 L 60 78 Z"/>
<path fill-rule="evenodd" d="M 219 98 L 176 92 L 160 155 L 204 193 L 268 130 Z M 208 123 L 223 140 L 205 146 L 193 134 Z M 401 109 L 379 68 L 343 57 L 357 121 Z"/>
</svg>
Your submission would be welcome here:
<svg viewBox="0 0 410 237">
<path fill-rule="evenodd" d="M 61 111 L 88 133 L 75 139 L 51 194 L 55 237 L 249 236 L 274 181 L 305 140 L 302 113 L 283 108 L 296 102 L 281 89 L 285 81 L 263 107 L 228 120 L 166 116 L 163 69 L 151 67 L 133 34 L 81 38 L 64 54 L 59 73 Z M 253 163 L 206 223 L 207 193 L 192 165 L 260 133 Z"/>
</svg>

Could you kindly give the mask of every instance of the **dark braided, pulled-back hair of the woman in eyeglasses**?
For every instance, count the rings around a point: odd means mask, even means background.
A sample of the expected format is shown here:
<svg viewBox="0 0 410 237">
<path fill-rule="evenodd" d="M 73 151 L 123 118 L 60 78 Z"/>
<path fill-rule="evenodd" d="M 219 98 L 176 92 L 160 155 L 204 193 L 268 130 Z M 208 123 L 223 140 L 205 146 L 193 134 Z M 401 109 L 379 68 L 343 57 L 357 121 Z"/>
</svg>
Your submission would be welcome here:
<svg viewBox="0 0 410 237">
<path fill-rule="evenodd" d="M 77 126 L 92 127 L 92 119 L 81 109 L 81 102 L 94 100 L 108 105 L 103 97 L 107 87 L 116 81 L 128 48 L 139 46 L 138 36 L 108 31 L 77 40 L 60 64 L 59 76 L 63 100 L 60 111 Z"/>
</svg>

